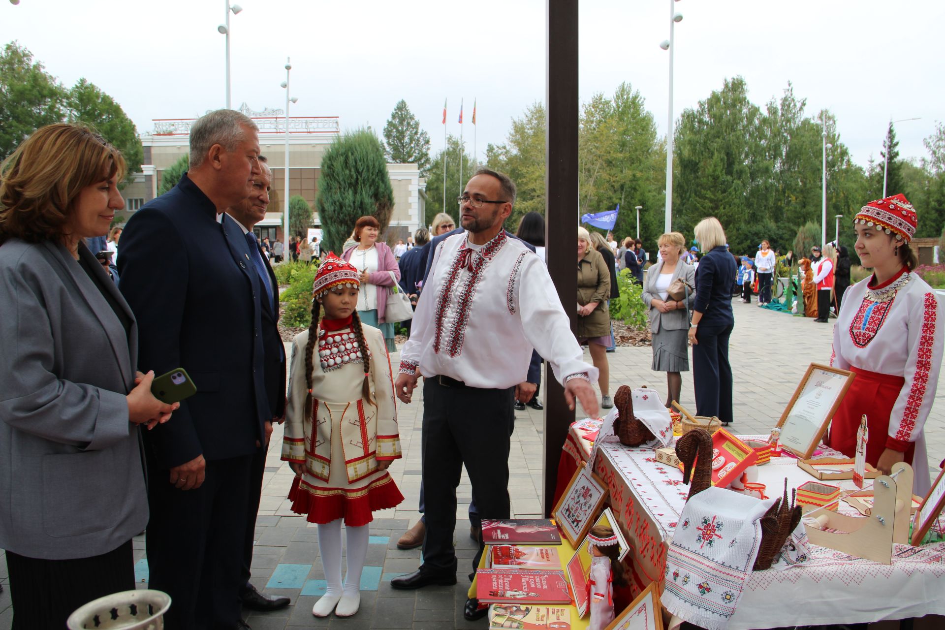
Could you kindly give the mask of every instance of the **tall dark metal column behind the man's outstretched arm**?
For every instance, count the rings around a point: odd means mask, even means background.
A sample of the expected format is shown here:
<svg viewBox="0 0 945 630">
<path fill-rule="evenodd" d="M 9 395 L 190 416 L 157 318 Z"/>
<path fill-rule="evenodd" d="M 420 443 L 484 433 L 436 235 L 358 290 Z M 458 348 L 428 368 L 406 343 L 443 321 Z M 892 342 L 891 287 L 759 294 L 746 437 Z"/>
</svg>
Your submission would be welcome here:
<svg viewBox="0 0 945 630">
<path fill-rule="evenodd" d="M 545 194 L 548 272 L 558 289 L 564 312 L 575 328 L 577 274 L 577 0 L 546 0 L 547 131 Z M 564 391 L 545 366 L 544 483 L 542 507 L 550 516 L 558 481 L 558 458 L 575 412 L 568 409 Z"/>
</svg>

